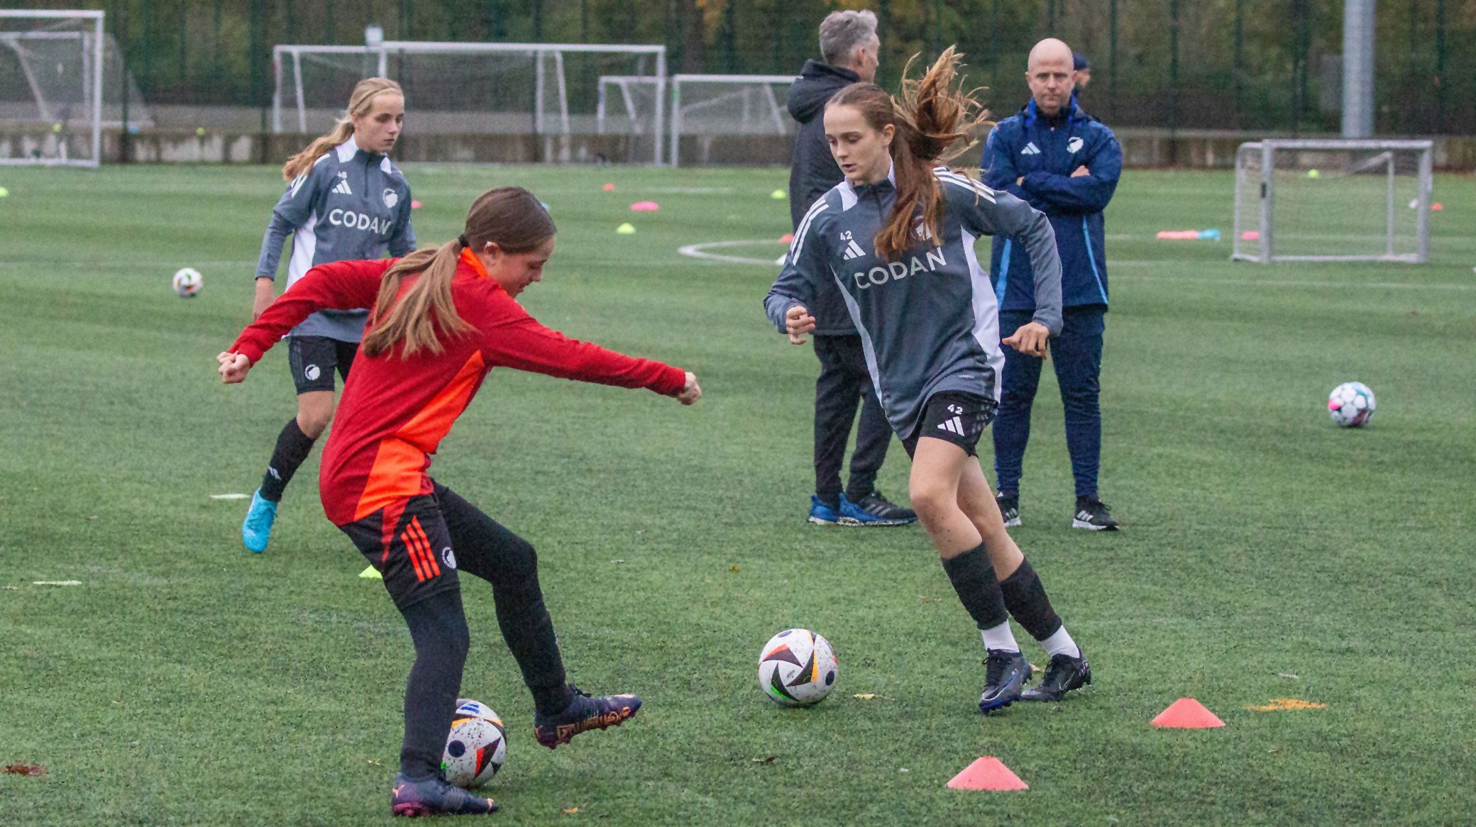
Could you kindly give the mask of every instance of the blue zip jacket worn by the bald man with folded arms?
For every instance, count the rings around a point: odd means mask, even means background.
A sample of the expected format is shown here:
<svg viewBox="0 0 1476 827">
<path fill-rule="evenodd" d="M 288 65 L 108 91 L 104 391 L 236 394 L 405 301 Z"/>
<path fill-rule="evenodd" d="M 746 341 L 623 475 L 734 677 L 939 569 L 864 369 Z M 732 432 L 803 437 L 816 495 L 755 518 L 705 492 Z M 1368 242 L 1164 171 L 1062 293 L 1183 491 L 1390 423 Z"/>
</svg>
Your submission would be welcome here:
<svg viewBox="0 0 1476 827">
<path fill-rule="evenodd" d="M 1122 175 L 1122 147 L 1111 130 L 1083 112 L 1075 96 L 1049 119 L 1032 100 L 989 133 L 980 167 L 990 189 L 1014 195 L 1051 220 L 1061 255 L 1061 307 L 1106 308 L 1103 209 Z M 1080 167 L 1091 174 L 1070 177 Z M 999 310 L 1035 310 L 1030 257 L 1018 243 L 995 236 L 989 274 Z"/>
</svg>

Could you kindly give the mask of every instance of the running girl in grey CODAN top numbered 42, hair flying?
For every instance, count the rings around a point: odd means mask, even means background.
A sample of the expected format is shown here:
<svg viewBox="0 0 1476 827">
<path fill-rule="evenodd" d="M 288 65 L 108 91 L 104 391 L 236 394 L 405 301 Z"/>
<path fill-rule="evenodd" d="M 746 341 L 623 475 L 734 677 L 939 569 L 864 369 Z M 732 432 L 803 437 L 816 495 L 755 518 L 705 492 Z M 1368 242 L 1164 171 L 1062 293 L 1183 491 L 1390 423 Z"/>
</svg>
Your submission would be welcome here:
<svg viewBox="0 0 1476 827">
<path fill-rule="evenodd" d="M 1061 270 L 1049 221 L 1014 196 L 934 167 L 974 127 L 977 103 L 956 88 L 948 49 L 900 100 L 853 84 L 825 109 L 825 137 L 846 180 L 815 202 L 794 234 L 765 310 L 801 343 L 821 279 L 840 286 L 861 332 L 877 395 L 912 457 L 909 494 L 943 570 L 984 638 L 979 709 L 1060 700 L 1091 668 L 1005 531 L 974 445 L 999 397 L 999 308 L 974 239 L 1008 234 L 1030 254 L 1035 320 L 1005 343 L 1045 355 L 1061 329 Z M 1014 616 L 1051 655 L 1029 690 Z"/>
</svg>

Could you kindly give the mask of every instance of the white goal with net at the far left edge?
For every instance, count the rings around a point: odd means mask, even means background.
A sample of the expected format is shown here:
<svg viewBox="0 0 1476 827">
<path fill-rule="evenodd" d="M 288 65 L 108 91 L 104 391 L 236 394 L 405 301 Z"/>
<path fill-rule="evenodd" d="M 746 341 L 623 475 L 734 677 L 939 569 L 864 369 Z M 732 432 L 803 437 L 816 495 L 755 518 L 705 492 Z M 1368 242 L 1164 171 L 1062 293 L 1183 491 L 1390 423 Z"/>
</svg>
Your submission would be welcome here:
<svg viewBox="0 0 1476 827">
<path fill-rule="evenodd" d="M 103 13 L 0 9 L 0 164 L 97 167 Z"/>
</svg>

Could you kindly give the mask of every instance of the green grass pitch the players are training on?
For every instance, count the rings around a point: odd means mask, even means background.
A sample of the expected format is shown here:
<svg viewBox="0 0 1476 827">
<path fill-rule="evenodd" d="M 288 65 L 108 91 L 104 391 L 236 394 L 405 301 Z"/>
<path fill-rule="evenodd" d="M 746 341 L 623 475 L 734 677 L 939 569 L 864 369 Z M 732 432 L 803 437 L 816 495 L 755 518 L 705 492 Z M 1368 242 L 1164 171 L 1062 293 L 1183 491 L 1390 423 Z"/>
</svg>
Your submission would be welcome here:
<svg viewBox="0 0 1476 827">
<path fill-rule="evenodd" d="M 1103 376 L 1103 495 L 1125 531 L 1069 528 L 1054 377 L 1015 531 L 1095 683 L 983 718 L 979 635 L 922 531 L 803 523 L 816 363 L 763 317 L 775 268 L 677 252 L 779 255 L 784 170 L 406 172 L 422 243 L 453 237 L 487 187 L 533 189 L 561 228 L 534 315 L 692 369 L 707 392 L 682 408 L 499 370 L 443 445 L 435 476 L 539 548 L 571 678 L 646 702 L 537 747 L 490 588 L 463 578 L 463 694 L 511 733 L 487 787 L 499 823 L 1472 818 L 1472 180 L 1436 180 L 1429 265 L 1261 267 L 1228 261 L 1230 174 L 1128 171 Z M 322 516 L 316 453 L 264 556 L 241 545 L 245 503 L 210 497 L 255 488 L 294 410 L 282 348 L 244 386 L 214 374 L 249 315 L 276 171 L 0 184 L 0 761 L 47 770 L 0 775 L 0 820 L 385 821 L 410 643 Z M 629 212 L 644 199 L 661 211 Z M 1327 209 L 1336 231 L 1346 206 Z M 1153 239 L 1191 227 L 1227 240 Z M 170 290 L 184 265 L 205 276 L 187 301 Z M 1379 398 L 1362 430 L 1324 408 L 1351 379 Z M 881 489 L 903 498 L 906 475 L 893 444 Z M 815 709 L 756 681 L 790 625 L 840 657 Z M 1148 725 L 1184 696 L 1227 727 Z M 1280 697 L 1325 708 L 1247 709 Z M 1030 790 L 945 789 L 983 755 Z"/>
</svg>

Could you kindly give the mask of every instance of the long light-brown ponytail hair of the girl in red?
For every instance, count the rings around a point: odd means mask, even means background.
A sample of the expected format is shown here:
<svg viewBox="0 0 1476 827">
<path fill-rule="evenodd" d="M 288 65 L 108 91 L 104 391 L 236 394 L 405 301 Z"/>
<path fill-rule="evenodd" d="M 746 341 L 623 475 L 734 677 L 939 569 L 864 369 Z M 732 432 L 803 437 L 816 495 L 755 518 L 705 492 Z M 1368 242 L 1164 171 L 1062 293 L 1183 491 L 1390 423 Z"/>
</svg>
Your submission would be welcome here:
<svg viewBox="0 0 1476 827">
<path fill-rule="evenodd" d="M 376 357 L 396 345 L 403 345 L 401 358 L 422 349 L 444 352 L 443 336 L 455 338 L 472 330 L 452 301 L 452 279 L 462 251 L 475 252 L 493 242 L 505 254 L 528 252 L 555 231 L 548 209 L 528 190 L 497 187 L 481 193 L 466 211 L 466 227 L 461 237 L 415 251 L 384 271 L 370 327 L 363 339 L 365 355 Z M 400 285 L 415 274 L 419 279 L 401 296 Z"/>
</svg>

